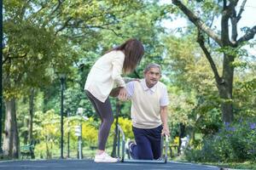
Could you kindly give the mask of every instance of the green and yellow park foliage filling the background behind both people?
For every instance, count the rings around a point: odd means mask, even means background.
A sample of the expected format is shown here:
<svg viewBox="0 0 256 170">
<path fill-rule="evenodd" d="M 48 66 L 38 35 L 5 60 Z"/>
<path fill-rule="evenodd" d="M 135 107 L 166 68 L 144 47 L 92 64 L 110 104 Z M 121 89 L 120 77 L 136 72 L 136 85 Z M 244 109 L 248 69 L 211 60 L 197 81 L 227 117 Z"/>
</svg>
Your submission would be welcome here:
<svg viewBox="0 0 256 170">
<path fill-rule="evenodd" d="M 83 154 L 93 156 L 100 122 L 86 99 L 84 82 L 98 57 L 125 39 L 136 37 L 143 42 L 146 53 L 137 70 L 124 76 L 142 78 L 148 63 L 162 65 L 161 82 L 166 83 L 170 99 L 171 143 L 180 144 L 181 138 L 190 136 L 188 150 L 184 152 L 186 159 L 255 161 L 256 60 L 255 53 L 247 51 L 255 49 L 255 38 L 236 47 L 221 47 L 207 33 L 200 35 L 201 31 L 189 20 L 185 27 L 168 30 L 162 25 L 163 20 L 188 19 L 174 5 L 180 1 L 172 2 L 3 1 L 5 156 L 20 157 L 20 146 L 32 140 L 36 141 L 36 158 L 60 156 L 60 73 L 66 75 L 64 155 L 67 156 L 69 133 L 72 156 L 77 156 L 78 139 L 73 129 L 81 123 Z M 200 13 L 200 20 L 213 31 L 218 30 L 212 23 L 223 16 L 225 1 L 181 2 L 192 12 Z M 238 11 L 241 2 L 236 7 Z M 241 27 L 241 37 L 249 33 L 254 36 L 253 28 Z M 216 32 L 221 31 L 224 32 Z M 200 36 L 205 38 L 218 72 L 224 71 L 225 55 L 235 56 L 228 65 L 234 69 L 231 99 L 219 94 L 222 84 L 215 81 L 212 65 L 198 43 Z M 116 99 L 111 98 L 111 103 L 115 115 Z M 233 108 L 234 118 L 229 123 L 225 122 L 223 105 Z M 88 121 L 77 114 L 79 107 L 84 108 L 82 116 L 89 117 Z M 130 102 L 121 103 L 119 124 L 126 137 L 132 139 L 130 107 Z M 108 138 L 108 151 L 113 149 L 114 125 Z M 9 132 L 15 133 L 10 136 Z"/>
</svg>

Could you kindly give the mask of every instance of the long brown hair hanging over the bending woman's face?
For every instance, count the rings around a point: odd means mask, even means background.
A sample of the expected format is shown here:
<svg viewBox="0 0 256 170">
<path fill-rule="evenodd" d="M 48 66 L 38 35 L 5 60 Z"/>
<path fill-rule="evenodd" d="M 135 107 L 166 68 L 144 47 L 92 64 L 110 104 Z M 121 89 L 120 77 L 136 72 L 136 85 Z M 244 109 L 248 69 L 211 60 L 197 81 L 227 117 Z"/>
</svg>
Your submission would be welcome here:
<svg viewBox="0 0 256 170">
<path fill-rule="evenodd" d="M 144 54 L 143 43 L 135 38 L 131 38 L 121 44 L 119 47 L 113 48 L 113 50 L 121 50 L 125 54 L 125 61 L 123 65 L 123 71 L 125 73 L 131 73 L 135 70 L 137 64 L 141 61 Z"/>
</svg>

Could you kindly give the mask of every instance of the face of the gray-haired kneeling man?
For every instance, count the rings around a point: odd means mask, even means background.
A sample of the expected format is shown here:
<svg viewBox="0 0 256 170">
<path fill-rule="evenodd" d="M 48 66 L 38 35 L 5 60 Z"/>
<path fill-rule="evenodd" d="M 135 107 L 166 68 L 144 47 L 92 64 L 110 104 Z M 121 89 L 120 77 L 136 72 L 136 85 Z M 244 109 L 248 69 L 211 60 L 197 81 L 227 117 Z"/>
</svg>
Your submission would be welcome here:
<svg viewBox="0 0 256 170">
<path fill-rule="evenodd" d="M 144 73 L 144 77 L 148 88 L 152 88 L 160 80 L 160 69 L 152 67 L 149 71 Z"/>
</svg>

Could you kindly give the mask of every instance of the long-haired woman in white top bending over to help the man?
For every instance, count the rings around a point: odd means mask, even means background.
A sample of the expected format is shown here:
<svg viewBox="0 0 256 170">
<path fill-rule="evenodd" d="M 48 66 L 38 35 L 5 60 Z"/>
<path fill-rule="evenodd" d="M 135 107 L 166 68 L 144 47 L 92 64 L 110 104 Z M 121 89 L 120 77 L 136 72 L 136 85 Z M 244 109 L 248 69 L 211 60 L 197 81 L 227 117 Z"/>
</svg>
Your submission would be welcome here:
<svg viewBox="0 0 256 170">
<path fill-rule="evenodd" d="M 142 42 L 132 38 L 108 51 L 90 69 L 84 90 L 102 121 L 98 133 L 98 150 L 94 159 L 96 162 L 118 161 L 117 158 L 108 156 L 105 152 L 108 134 L 113 123 L 113 111 L 108 96 L 113 89 L 113 84 L 116 83 L 121 87 L 118 98 L 126 99 L 125 81 L 121 73 L 134 71 L 143 54 Z"/>
</svg>

